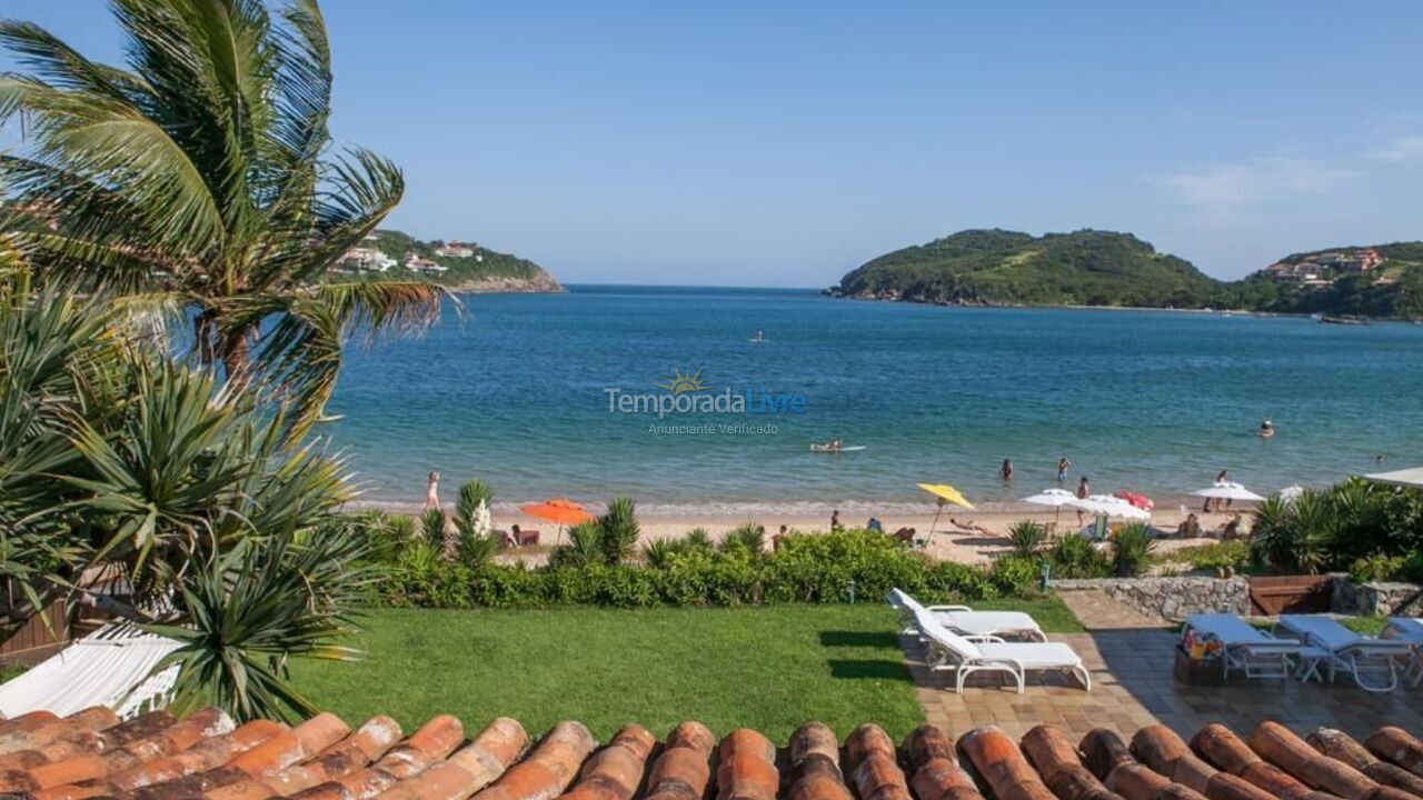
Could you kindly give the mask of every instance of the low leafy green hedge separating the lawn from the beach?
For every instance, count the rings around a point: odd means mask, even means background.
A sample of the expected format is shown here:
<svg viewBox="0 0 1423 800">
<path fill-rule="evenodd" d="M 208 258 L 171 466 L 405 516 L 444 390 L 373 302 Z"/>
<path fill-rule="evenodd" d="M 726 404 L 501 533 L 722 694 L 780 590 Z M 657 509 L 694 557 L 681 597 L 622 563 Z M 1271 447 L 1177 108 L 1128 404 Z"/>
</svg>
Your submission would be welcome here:
<svg viewBox="0 0 1423 800">
<path fill-rule="evenodd" d="M 383 582 L 381 602 L 417 608 L 545 605 L 734 606 L 878 601 L 899 586 L 926 602 L 982 601 L 1029 589 L 1036 574 L 933 561 L 884 534 L 791 534 L 771 554 L 692 548 L 660 567 L 467 567 L 411 548 Z"/>
</svg>

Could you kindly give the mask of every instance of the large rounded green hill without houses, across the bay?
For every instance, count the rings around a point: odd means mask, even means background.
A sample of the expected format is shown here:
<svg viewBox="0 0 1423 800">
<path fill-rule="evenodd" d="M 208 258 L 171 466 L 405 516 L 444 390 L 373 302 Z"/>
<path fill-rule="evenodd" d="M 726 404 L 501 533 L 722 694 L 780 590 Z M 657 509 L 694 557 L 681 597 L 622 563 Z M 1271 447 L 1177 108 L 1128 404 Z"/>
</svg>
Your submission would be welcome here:
<svg viewBox="0 0 1423 800">
<path fill-rule="evenodd" d="M 1076 231 L 1032 236 L 961 231 L 885 253 L 831 293 L 924 303 L 1027 306 L 1228 305 L 1228 285 L 1130 233 Z"/>
</svg>

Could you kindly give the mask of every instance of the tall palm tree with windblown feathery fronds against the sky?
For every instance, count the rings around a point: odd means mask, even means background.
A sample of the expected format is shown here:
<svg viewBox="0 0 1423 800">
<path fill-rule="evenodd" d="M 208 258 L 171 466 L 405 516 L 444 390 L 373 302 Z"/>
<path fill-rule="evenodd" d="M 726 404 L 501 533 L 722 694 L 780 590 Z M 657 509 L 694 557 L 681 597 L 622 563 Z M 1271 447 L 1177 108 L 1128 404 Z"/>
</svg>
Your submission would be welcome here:
<svg viewBox="0 0 1423 800">
<path fill-rule="evenodd" d="M 111 0 L 128 68 L 44 28 L 0 21 L 28 70 L 0 75 L 0 157 L 14 248 L 47 280 L 185 310 L 192 357 L 280 387 L 287 436 L 322 417 L 353 332 L 420 329 L 424 282 L 324 283 L 400 202 L 366 149 L 332 152 L 332 63 L 316 0 Z M 169 315 L 171 317 L 174 315 Z"/>
</svg>

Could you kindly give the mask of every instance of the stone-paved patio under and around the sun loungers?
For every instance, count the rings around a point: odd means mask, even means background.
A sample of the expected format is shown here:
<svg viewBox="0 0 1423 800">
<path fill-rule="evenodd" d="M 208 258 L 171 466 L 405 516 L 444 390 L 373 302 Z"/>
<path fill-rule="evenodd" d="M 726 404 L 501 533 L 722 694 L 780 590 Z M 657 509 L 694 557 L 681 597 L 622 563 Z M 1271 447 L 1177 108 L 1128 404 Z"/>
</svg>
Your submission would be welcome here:
<svg viewBox="0 0 1423 800">
<path fill-rule="evenodd" d="M 1264 719 L 1298 732 L 1339 727 L 1358 737 L 1383 725 L 1423 730 L 1419 689 L 1375 695 L 1346 678 L 1333 686 L 1234 676 L 1225 686 L 1177 683 L 1171 676 L 1175 633 L 1163 629 L 1160 621 L 1147 621 L 1148 628 L 1121 628 L 1117 625 L 1124 616 L 1113 615 L 1110 606 L 1099 611 L 1106 614 L 1106 621 L 1099 621 L 1101 628 L 1091 629 L 1089 619 L 1083 619 L 1090 632 L 1049 636 L 1067 642 L 1083 658 L 1091 670 L 1091 692 L 1084 692 L 1070 676 L 1030 673 L 1027 690 L 1019 695 L 1003 676 L 980 673 L 970 676 L 963 695 L 958 695 L 952 673 L 928 670 L 918 641 L 901 638 L 928 722 L 955 735 L 996 725 L 1015 737 L 1036 725 L 1052 725 L 1074 737 L 1093 727 L 1111 727 L 1130 737 L 1154 723 L 1190 737 L 1211 722 L 1248 733 Z"/>
</svg>

